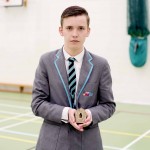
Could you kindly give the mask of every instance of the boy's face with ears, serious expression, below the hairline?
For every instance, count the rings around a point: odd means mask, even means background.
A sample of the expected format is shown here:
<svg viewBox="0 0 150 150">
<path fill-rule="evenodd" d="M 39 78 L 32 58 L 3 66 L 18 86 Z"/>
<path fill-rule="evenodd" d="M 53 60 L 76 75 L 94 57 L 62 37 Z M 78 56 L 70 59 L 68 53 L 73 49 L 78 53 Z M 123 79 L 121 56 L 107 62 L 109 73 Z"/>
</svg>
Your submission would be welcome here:
<svg viewBox="0 0 150 150">
<path fill-rule="evenodd" d="M 70 50 L 81 50 L 90 33 L 85 15 L 71 16 L 63 19 L 63 25 L 59 28 L 64 37 L 64 46 Z"/>
</svg>

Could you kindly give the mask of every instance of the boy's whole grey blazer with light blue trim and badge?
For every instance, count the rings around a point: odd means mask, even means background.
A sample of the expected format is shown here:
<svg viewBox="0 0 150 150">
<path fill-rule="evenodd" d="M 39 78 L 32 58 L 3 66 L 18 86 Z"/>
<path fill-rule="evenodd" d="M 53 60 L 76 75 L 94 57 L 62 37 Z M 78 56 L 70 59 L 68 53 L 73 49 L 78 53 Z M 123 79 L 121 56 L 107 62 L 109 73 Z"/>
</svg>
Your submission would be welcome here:
<svg viewBox="0 0 150 150">
<path fill-rule="evenodd" d="M 77 88 L 77 104 L 92 113 L 93 122 L 84 132 L 61 121 L 64 107 L 72 107 L 62 49 L 44 54 L 36 70 L 31 104 L 33 113 L 44 119 L 36 150 L 103 150 L 98 123 L 115 111 L 112 79 L 107 61 L 87 50 Z"/>
</svg>

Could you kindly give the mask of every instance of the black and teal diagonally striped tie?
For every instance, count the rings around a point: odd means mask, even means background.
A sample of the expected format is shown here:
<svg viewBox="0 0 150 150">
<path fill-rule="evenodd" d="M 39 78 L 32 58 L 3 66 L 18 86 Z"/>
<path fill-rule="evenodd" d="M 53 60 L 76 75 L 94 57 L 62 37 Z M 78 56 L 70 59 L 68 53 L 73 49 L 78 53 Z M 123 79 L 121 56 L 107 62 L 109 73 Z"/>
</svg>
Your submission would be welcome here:
<svg viewBox="0 0 150 150">
<path fill-rule="evenodd" d="M 68 60 L 69 60 L 68 82 L 69 82 L 72 106 L 74 106 L 75 90 L 76 90 L 76 72 L 74 67 L 75 58 L 70 57 Z"/>
</svg>

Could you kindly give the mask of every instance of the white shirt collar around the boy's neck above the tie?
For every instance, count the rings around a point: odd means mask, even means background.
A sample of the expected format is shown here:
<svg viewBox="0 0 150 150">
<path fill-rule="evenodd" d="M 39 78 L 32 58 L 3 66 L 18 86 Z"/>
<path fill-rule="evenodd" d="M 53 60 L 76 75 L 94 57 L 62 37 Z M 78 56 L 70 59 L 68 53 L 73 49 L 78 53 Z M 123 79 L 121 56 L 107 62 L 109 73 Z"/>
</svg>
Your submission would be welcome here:
<svg viewBox="0 0 150 150">
<path fill-rule="evenodd" d="M 74 58 L 76 59 L 77 62 L 82 63 L 84 52 L 85 52 L 85 50 L 83 49 L 80 54 L 74 56 Z M 63 48 L 63 53 L 64 53 L 65 60 L 68 60 L 69 57 L 72 57 L 65 51 L 64 48 Z"/>
</svg>

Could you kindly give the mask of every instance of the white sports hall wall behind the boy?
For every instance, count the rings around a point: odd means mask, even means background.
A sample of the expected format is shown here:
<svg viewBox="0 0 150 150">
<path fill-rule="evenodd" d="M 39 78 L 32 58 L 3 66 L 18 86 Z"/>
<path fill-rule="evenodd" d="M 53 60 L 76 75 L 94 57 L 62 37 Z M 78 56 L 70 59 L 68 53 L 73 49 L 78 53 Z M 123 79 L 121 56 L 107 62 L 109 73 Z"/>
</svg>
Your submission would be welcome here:
<svg viewBox="0 0 150 150">
<path fill-rule="evenodd" d="M 150 55 L 142 68 L 130 63 L 126 4 L 126 0 L 29 0 L 26 8 L 0 7 L 0 82 L 32 84 L 41 54 L 63 45 L 58 33 L 62 11 L 80 5 L 91 17 L 85 47 L 109 61 L 115 100 L 150 104 Z"/>
</svg>

